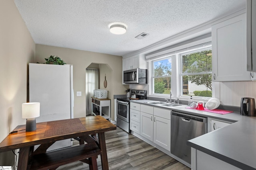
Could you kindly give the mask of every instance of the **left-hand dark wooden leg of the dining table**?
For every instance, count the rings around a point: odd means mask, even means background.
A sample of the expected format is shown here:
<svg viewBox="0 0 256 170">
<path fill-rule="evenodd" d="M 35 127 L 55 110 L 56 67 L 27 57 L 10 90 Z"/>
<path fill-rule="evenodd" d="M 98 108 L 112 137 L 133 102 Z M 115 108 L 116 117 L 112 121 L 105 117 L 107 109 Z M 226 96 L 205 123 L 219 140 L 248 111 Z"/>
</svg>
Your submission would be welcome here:
<svg viewBox="0 0 256 170">
<path fill-rule="evenodd" d="M 28 168 L 28 157 L 30 154 L 30 147 L 20 148 L 18 170 L 26 170 Z"/>
</svg>

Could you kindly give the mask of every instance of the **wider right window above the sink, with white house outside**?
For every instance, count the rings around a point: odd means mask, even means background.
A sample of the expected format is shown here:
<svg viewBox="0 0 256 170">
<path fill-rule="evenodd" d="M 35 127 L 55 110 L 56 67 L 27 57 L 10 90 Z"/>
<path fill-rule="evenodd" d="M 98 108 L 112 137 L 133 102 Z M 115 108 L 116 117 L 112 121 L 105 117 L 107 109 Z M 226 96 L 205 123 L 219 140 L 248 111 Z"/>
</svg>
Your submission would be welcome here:
<svg viewBox="0 0 256 170">
<path fill-rule="evenodd" d="M 212 49 L 180 54 L 181 95 L 212 97 Z"/>
</svg>

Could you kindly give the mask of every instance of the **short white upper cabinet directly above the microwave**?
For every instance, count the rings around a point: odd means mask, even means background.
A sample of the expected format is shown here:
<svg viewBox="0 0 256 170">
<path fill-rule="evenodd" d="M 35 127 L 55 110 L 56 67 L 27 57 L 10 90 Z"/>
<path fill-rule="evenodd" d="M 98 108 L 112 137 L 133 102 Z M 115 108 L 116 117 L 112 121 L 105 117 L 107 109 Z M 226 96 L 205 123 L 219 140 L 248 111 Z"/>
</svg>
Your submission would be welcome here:
<svg viewBox="0 0 256 170">
<path fill-rule="evenodd" d="M 135 68 L 147 69 L 145 55 L 137 54 L 137 55 L 123 59 L 123 71 L 132 70 Z"/>
</svg>

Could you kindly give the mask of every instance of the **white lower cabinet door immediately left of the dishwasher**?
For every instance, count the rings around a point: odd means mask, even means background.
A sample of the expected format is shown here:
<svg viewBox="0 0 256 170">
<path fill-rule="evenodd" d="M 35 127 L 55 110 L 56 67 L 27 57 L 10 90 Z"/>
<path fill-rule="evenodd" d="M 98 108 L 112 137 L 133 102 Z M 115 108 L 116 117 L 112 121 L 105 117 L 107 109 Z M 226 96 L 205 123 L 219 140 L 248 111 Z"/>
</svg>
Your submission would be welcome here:
<svg viewBox="0 0 256 170">
<path fill-rule="evenodd" d="M 153 142 L 171 151 L 171 121 L 162 117 L 154 116 L 154 139 Z"/>
</svg>

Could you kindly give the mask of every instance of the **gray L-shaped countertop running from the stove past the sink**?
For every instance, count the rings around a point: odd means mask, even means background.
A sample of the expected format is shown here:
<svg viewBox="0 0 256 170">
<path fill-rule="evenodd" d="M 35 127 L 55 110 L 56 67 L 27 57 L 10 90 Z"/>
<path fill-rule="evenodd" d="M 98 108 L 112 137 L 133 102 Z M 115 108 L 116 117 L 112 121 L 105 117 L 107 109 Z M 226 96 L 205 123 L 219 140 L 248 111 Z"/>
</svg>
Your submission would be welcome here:
<svg viewBox="0 0 256 170">
<path fill-rule="evenodd" d="M 136 100 L 140 104 L 146 104 L 152 100 Z M 157 105 L 147 104 L 154 107 Z M 174 111 L 211 117 L 215 119 L 234 122 L 226 127 L 206 133 L 200 137 L 189 140 L 189 146 L 206 154 L 214 156 L 238 168 L 256 170 L 256 117 L 240 115 L 239 112 L 225 115 L 186 108 L 188 106 L 163 107 Z"/>
</svg>

